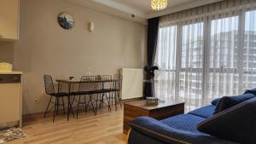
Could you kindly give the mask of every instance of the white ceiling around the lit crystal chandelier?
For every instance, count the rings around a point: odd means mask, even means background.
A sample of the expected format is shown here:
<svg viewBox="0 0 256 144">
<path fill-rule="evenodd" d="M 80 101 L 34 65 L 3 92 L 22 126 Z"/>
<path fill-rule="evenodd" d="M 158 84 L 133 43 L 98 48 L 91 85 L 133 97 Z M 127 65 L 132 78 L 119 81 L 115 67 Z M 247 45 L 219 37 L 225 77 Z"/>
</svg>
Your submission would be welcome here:
<svg viewBox="0 0 256 144">
<path fill-rule="evenodd" d="M 128 20 L 147 23 L 147 19 L 172 14 L 184 9 L 191 9 L 201 5 L 215 3 L 223 0 L 168 0 L 168 6 L 164 10 L 151 9 L 151 0 L 64 0 L 69 3 L 82 5 L 90 9 L 96 9 L 103 13 L 113 14 Z M 135 17 L 131 15 L 134 14 Z"/>
</svg>

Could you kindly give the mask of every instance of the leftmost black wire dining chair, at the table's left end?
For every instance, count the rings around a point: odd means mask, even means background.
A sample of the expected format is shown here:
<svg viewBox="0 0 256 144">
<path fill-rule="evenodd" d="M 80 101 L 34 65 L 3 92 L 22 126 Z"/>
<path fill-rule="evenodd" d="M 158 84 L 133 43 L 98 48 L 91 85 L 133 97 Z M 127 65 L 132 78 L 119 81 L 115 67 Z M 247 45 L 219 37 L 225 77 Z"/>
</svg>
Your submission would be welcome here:
<svg viewBox="0 0 256 144">
<path fill-rule="evenodd" d="M 49 75 L 44 75 L 44 88 L 45 88 L 45 93 L 47 95 L 50 95 L 49 103 L 48 106 L 46 107 L 46 110 L 44 112 L 44 118 L 46 118 L 46 114 L 49 109 L 49 105 L 52 103 L 52 97 L 55 97 L 55 102 L 54 103 L 54 113 L 53 113 L 53 123 L 55 122 L 55 115 L 58 114 L 59 111 L 59 106 L 63 108 L 63 112 L 65 114 L 65 103 L 64 103 L 64 97 L 70 96 L 68 93 L 63 93 L 61 92 L 61 86 L 58 84 L 58 92 L 55 92 L 55 86 L 53 84 L 52 77 Z M 61 100 L 60 100 L 61 99 Z M 60 103 L 61 101 L 61 103 Z"/>
</svg>

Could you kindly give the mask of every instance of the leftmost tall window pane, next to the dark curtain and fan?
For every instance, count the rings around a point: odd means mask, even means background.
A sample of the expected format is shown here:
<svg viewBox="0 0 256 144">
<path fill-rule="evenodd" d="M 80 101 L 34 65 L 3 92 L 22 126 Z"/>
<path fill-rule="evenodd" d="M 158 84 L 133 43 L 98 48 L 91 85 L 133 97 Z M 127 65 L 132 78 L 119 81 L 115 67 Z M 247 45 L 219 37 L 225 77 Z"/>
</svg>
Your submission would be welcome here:
<svg viewBox="0 0 256 144">
<path fill-rule="evenodd" d="M 160 98 L 175 99 L 177 26 L 159 30 L 155 64 L 160 71 L 155 72 L 154 93 Z"/>
</svg>

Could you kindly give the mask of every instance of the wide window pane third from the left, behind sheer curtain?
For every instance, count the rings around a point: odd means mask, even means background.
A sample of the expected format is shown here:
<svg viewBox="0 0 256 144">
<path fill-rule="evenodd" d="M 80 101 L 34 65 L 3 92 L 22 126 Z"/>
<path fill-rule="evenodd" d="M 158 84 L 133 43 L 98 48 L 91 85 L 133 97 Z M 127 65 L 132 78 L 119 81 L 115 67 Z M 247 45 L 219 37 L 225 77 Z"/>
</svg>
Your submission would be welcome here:
<svg viewBox="0 0 256 144">
<path fill-rule="evenodd" d="M 238 16 L 212 20 L 207 67 L 207 101 L 238 93 Z"/>
</svg>

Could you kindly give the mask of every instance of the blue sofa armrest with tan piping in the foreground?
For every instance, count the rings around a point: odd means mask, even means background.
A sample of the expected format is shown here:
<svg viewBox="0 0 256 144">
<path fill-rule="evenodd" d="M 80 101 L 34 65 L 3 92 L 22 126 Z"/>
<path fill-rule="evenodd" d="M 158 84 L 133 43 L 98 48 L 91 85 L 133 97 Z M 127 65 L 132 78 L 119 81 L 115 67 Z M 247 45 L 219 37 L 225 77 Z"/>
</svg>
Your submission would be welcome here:
<svg viewBox="0 0 256 144">
<path fill-rule="evenodd" d="M 177 130 L 154 118 L 141 117 L 136 118 L 130 123 L 131 129 L 162 141 L 167 144 L 236 144 L 230 141 L 223 141 L 210 135 L 200 135 L 189 131 Z M 129 137 L 129 143 L 132 137 Z"/>
</svg>

